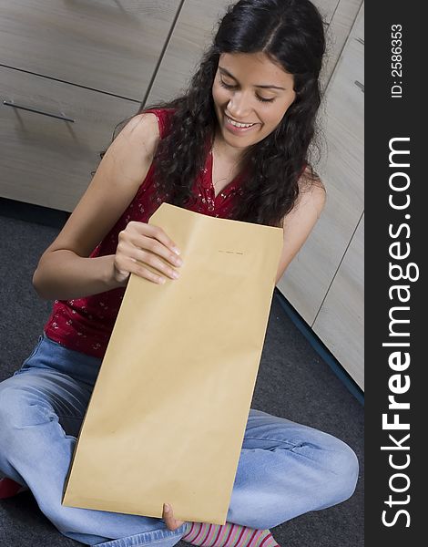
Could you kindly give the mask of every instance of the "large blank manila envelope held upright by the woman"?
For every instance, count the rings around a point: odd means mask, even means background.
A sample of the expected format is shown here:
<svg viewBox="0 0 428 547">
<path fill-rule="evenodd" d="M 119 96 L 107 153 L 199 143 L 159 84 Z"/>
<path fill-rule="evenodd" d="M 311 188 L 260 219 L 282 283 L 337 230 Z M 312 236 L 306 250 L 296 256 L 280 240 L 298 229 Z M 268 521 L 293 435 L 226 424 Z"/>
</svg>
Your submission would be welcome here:
<svg viewBox="0 0 428 547">
<path fill-rule="evenodd" d="M 63 503 L 224 524 L 280 261 L 282 229 L 162 203 L 177 280 L 131 275 Z"/>
</svg>

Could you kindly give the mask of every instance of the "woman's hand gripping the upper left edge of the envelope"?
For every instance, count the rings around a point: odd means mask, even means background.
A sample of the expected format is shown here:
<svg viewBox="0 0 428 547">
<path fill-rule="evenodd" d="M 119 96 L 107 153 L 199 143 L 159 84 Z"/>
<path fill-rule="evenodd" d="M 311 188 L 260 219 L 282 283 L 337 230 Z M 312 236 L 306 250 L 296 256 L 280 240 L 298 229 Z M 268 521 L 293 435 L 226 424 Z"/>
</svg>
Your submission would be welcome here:
<svg viewBox="0 0 428 547">
<path fill-rule="evenodd" d="M 176 244 L 159 226 L 129 222 L 118 235 L 114 257 L 115 280 L 125 285 L 129 274 L 137 274 L 158 284 L 165 283 L 164 275 L 177 279 L 179 273 L 171 266 L 180 266 L 182 260 L 176 249 L 179 253 Z M 157 273 L 151 272 L 147 266 L 151 266 Z"/>
</svg>

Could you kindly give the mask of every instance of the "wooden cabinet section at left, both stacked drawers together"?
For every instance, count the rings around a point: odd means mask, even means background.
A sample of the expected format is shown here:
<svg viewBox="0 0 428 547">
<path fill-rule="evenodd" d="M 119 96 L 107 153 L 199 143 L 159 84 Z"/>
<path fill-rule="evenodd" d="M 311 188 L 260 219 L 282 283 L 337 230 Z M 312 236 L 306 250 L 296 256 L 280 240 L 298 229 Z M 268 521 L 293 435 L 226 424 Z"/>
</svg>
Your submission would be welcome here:
<svg viewBox="0 0 428 547">
<path fill-rule="evenodd" d="M 148 94 L 179 5 L 0 2 L 1 197 L 74 209 L 115 126 Z"/>
</svg>

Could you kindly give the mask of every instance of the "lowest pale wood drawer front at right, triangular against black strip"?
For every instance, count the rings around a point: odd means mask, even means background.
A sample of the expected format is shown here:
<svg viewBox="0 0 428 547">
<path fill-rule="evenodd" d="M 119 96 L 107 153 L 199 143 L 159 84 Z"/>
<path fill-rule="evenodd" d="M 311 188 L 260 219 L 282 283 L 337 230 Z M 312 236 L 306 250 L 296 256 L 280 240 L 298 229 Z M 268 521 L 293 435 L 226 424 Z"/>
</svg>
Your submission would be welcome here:
<svg viewBox="0 0 428 547">
<path fill-rule="evenodd" d="M 364 217 L 313 324 L 314 332 L 364 388 Z"/>
</svg>

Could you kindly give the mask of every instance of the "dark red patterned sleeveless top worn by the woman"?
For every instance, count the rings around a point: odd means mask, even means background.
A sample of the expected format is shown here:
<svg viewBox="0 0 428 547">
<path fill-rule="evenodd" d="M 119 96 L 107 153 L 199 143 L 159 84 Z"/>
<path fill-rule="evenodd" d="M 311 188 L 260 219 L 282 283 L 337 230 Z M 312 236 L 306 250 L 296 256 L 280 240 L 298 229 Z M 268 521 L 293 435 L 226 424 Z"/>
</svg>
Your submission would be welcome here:
<svg viewBox="0 0 428 547">
<path fill-rule="evenodd" d="M 160 139 L 163 139 L 168 131 L 168 117 L 172 110 L 152 109 L 146 110 L 146 112 L 156 114 Z M 156 202 L 149 200 L 149 196 L 154 191 L 155 169 L 156 165 L 153 161 L 146 179 L 142 182 L 127 210 L 90 254 L 91 257 L 116 253 L 118 233 L 125 229 L 127 223 L 130 221 L 148 222 L 151 215 L 158 209 L 162 201 L 159 198 Z M 238 177 L 229 182 L 217 197 L 215 197 L 211 176 L 212 154 L 209 152 L 205 166 L 194 183 L 193 194 L 197 198 L 196 202 L 188 209 L 209 216 L 231 218 L 231 209 L 234 198 L 239 193 L 243 173 L 239 173 Z M 69 349 L 90 356 L 103 357 L 124 293 L 125 288 L 118 288 L 84 298 L 56 300 L 45 325 L 46 335 Z"/>
</svg>

